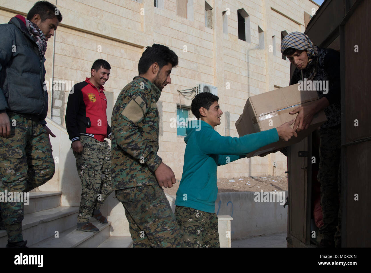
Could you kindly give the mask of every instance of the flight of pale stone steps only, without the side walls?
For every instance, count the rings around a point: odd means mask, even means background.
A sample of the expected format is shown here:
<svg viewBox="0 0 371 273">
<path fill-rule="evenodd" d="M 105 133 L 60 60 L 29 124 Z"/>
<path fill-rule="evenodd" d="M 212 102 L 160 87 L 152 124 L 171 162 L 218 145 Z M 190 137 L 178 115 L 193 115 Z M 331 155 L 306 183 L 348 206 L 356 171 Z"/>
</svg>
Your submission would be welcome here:
<svg viewBox="0 0 371 273">
<path fill-rule="evenodd" d="M 131 246 L 131 238 L 125 236 L 106 241 L 111 222 L 101 224 L 92 219 L 99 232 L 77 231 L 79 207 L 60 206 L 61 195 L 62 192 L 30 192 L 22 221 L 23 239 L 27 240 L 28 247 L 112 247 L 111 241 L 117 247 Z M 6 244 L 7 234 L 3 230 L 0 231 L 0 247 Z"/>
</svg>

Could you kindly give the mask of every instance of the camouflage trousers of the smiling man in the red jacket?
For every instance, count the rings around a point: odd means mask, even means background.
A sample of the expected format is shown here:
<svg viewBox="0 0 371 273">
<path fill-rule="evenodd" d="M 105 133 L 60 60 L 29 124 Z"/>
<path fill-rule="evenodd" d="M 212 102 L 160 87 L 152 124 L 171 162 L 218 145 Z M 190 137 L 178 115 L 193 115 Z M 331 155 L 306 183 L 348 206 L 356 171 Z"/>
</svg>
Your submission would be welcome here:
<svg viewBox="0 0 371 273">
<path fill-rule="evenodd" d="M 94 209 L 99 209 L 112 192 L 111 148 L 105 140 L 80 136 L 83 150 L 73 152 L 81 179 L 81 201 L 77 217 L 79 223 L 89 222 Z M 71 146 L 72 147 L 72 146 Z"/>
</svg>

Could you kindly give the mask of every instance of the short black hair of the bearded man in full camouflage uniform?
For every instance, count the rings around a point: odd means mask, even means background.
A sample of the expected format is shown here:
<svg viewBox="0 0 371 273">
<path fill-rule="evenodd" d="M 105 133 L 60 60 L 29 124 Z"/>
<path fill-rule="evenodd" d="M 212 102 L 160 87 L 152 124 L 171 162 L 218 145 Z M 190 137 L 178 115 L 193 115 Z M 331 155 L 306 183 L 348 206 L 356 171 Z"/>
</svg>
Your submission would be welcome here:
<svg viewBox="0 0 371 273">
<path fill-rule="evenodd" d="M 145 74 L 155 62 L 160 66 L 160 69 L 168 63 L 175 67 L 178 65 L 178 56 L 164 45 L 154 43 L 152 46 L 147 46 L 138 62 L 139 75 Z"/>
</svg>

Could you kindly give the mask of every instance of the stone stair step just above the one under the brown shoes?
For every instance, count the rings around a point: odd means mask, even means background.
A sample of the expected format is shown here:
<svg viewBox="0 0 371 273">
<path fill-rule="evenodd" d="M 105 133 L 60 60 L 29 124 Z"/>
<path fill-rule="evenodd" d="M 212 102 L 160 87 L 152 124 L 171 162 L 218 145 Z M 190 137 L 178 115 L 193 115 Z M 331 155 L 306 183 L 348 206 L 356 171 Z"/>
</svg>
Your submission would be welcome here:
<svg viewBox="0 0 371 273">
<path fill-rule="evenodd" d="M 68 230 L 77 223 L 79 207 L 58 207 L 25 214 L 22 221 L 23 240 L 27 240 L 27 246 L 45 240 Z M 5 230 L 0 231 L 0 247 L 7 244 Z"/>
</svg>

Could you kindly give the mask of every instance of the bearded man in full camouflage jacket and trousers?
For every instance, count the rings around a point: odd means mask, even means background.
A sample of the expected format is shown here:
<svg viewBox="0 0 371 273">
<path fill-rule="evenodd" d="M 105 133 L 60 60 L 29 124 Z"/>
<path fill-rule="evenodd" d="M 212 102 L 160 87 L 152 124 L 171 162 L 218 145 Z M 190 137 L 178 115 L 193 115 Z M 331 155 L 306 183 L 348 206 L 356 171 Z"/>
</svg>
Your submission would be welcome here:
<svg viewBox="0 0 371 273">
<path fill-rule="evenodd" d="M 178 56 L 154 44 L 142 54 L 139 76 L 119 94 L 112 113 L 112 188 L 122 202 L 134 247 L 181 246 L 182 234 L 161 186 L 172 187 L 173 171 L 157 155 L 157 101 L 171 83 Z"/>
</svg>

